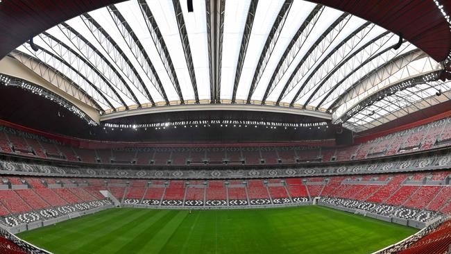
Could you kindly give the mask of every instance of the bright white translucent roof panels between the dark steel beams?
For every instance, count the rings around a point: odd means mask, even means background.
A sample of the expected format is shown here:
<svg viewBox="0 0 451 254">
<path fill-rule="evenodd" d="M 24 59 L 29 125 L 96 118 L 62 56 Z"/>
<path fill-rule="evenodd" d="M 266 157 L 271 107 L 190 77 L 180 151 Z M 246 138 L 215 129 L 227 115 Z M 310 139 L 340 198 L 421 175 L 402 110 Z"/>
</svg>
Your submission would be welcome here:
<svg viewBox="0 0 451 254">
<path fill-rule="evenodd" d="M 210 101 L 212 100 L 210 87 L 212 72 L 209 62 L 208 37 L 210 34 L 207 29 L 206 8 L 207 5 L 210 5 L 210 1 L 193 1 L 193 3 L 194 12 L 188 12 L 187 1 L 180 0 L 189 49 L 192 53 L 198 99 Z M 219 87 L 220 93 L 217 96 L 222 103 L 230 103 L 234 95 L 240 48 L 250 4 L 251 0 L 226 0 L 223 10 L 223 45 L 221 64 L 219 65 L 221 69 L 217 70 L 220 71 L 219 75 L 215 75 L 219 76 L 220 80 L 213 81 L 213 85 L 216 83 L 221 85 Z M 310 26 L 307 26 L 304 31 L 299 31 L 302 32 L 301 35 L 295 38 L 294 36 L 298 33 L 300 27 L 303 24 L 305 26 L 305 22 L 307 22 L 307 18 L 311 15 L 316 4 L 293 0 L 286 14 L 286 19 L 280 25 L 280 34 L 273 38 L 275 44 L 269 51 L 266 51 L 264 65 L 260 68 L 259 73 L 255 74 L 264 44 L 283 5 L 284 1 L 258 1 L 253 17 L 253 26 L 250 29 L 246 55 L 243 58 L 241 76 L 237 81 L 236 101 L 232 102 L 246 103 L 252 92 L 250 91 L 251 84 L 254 77 L 257 76 L 257 82 L 254 84 L 255 90 L 250 96 L 252 103 L 273 104 L 279 102 L 281 105 L 294 105 L 310 110 L 325 111 L 334 104 L 334 101 L 340 99 L 340 96 L 347 92 L 352 85 L 361 81 L 371 71 L 384 66 L 386 62 L 393 60 L 393 58 L 416 50 L 416 46 L 408 42 L 402 44 L 398 50 L 391 49 L 398 42 L 397 35 L 352 15 L 339 19 L 343 17 L 343 12 L 325 6 L 320 6 L 321 9 L 314 13 L 314 17 L 310 20 Z M 159 105 L 166 99 L 171 104 L 180 103 L 181 98 L 176 92 L 176 84 L 171 81 L 171 74 L 169 74 L 168 67 L 165 66 L 164 58 L 167 57 L 173 63 L 176 80 L 180 85 L 180 92 L 184 100 L 182 103 L 194 103 L 196 98 L 192 83 L 193 77 L 190 76 L 189 62 L 185 57 L 173 1 L 148 0 L 148 7 L 160 29 L 169 56 L 160 55 L 160 45 L 155 45 L 137 0 L 119 3 L 115 7 L 124 17 L 128 26 L 132 28 L 140 44 L 144 47 L 144 51 L 149 56 L 151 65 L 156 71 L 153 77 L 148 75 L 148 70 L 146 72 L 142 62 L 139 62 L 135 57 L 137 54 L 130 49 L 129 43 L 121 35 L 121 31 L 114 23 L 108 8 L 94 10 L 88 14 L 108 33 L 114 44 L 123 51 L 120 58 L 115 54 L 118 51 L 113 49 L 114 45 L 108 40 L 102 40 L 97 32 L 92 33 L 90 31 L 88 26 L 90 22 L 85 17 L 75 17 L 66 23 L 90 42 L 98 53 L 95 53 L 90 49 L 90 46 L 83 42 L 69 39 L 70 36 L 67 36 L 67 31 L 62 25 L 53 27 L 46 32 L 69 46 L 78 56 L 56 49 L 53 43 L 58 44 L 58 42 L 49 40 L 45 35 L 35 37 L 35 44 L 58 56 L 59 60 L 50 60 L 51 57 L 46 53 L 36 53 L 30 49 L 28 44 L 19 46 L 17 51 L 33 56 L 58 69 L 92 96 L 101 106 L 99 110 L 107 112 L 121 106 L 151 103 L 145 89 L 148 90 L 153 101 Z M 215 15 L 215 13 L 212 13 L 212 15 Z M 219 17 L 217 20 L 219 20 Z M 327 29 L 330 29 L 331 25 L 337 20 L 337 26 L 326 33 Z M 215 33 L 215 24 L 212 24 L 211 27 L 212 33 Z M 383 33 L 387 34 L 382 35 Z M 290 42 L 294 40 L 296 42 L 293 43 L 293 46 L 287 49 Z M 316 45 L 316 42 L 319 43 Z M 364 45 L 366 46 L 363 47 Z M 214 51 L 215 49 L 212 48 L 213 53 Z M 282 57 L 285 51 L 289 51 L 289 53 Z M 370 58 L 373 59 L 368 60 Z M 128 60 L 128 64 L 124 64 L 122 60 Z M 365 62 L 367 60 L 368 62 Z M 428 60 L 432 59 L 428 58 Z M 85 62 L 88 62 L 89 65 Z M 86 74 L 85 77 L 76 74 L 67 65 L 71 65 L 81 74 Z M 418 65 L 418 62 L 412 65 Z M 96 68 L 98 72 L 92 70 L 91 67 Z M 374 84 L 373 90 L 388 87 L 391 83 L 396 83 L 400 79 L 409 78 L 409 75 L 417 76 L 420 74 L 418 71 L 415 74 L 405 71 L 402 75 L 393 75 L 387 78 L 385 83 Z M 164 93 L 160 92 L 155 76 L 159 78 Z M 94 90 L 88 81 L 98 87 L 101 94 Z M 443 85 L 443 89 L 448 90 L 448 85 Z M 425 91 L 424 87 L 420 86 L 409 88 L 411 94 L 416 94 L 416 90 Z M 164 94 L 167 98 L 164 98 Z M 355 105 L 355 103 L 365 99 L 368 94 L 370 92 L 361 94 L 349 103 Z M 103 96 L 109 103 L 103 99 Z M 387 99 L 386 103 L 396 102 L 395 99 L 391 100 Z M 418 102 L 412 100 L 409 97 L 410 102 Z M 122 101 L 126 105 L 123 105 Z M 111 108 L 110 103 L 114 108 Z M 425 107 L 427 105 L 429 104 L 424 104 Z M 339 108 L 340 105 L 336 106 L 334 108 Z M 403 106 L 407 107 L 407 104 Z M 382 108 L 389 107 L 383 105 Z M 372 115 L 371 119 L 370 117 L 362 117 L 361 114 L 364 113 L 359 113 L 349 120 L 349 125 L 360 126 L 374 122 L 375 117 L 384 117 L 382 111 L 380 110 L 377 114 Z M 337 114 L 335 115 L 337 116 Z"/>
</svg>

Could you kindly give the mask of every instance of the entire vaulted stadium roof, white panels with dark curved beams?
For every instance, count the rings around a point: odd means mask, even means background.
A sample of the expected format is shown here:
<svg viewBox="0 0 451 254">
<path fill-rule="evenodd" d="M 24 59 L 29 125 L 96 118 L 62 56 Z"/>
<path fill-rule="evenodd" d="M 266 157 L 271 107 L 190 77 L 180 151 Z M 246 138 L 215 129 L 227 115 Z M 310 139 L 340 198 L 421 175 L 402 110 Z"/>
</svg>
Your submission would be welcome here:
<svg viewBox="0 0 451 254">
<path fill-rule="evenodd" d="M 125 1 L 62 22 L 34 37 L 39 50 L 26 42 L 10 56 L 50 83 L 50 71 L 69 81 L 73 96 L 85 94 L 105 115 L 178 104 L 274 105 L 325 112 L 361 131 L 448 100 L 450 84 L 439 80 L 445 62 L 437 61 L 449 45 L 412 28 L 388 31 L 345 2 L 334 7 L 360 17 L 300 0 L 193 1 L 194 12 L 185 0 Z M 440 6 L 421 2 L 378 8 L 386 15 L 423 8 L 442 29 Z M 416 44 L 399 45 L 400 35 Z"/>
</svg>

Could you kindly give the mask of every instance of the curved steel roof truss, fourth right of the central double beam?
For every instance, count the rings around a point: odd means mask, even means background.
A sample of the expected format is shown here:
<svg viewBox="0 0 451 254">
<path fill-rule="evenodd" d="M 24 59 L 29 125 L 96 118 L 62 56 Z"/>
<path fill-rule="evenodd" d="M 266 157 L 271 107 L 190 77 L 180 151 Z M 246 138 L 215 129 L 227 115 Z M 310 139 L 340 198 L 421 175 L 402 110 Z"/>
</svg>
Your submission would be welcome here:
<svg viewBox="0 0 451 254">
<path fill-rule="evenodd" d="M 293 90 L 294 87 L 296 87 L 296 85 L 292 85 L 291 89 L 289 90 L 291 82 L 294 80 L 294 78 L 296 78 L 299 75 L 298 71 L 303 70 L 303 69 L 301 69 L 301 67 L 303 67 L 304 63 L 309 59 L 309 57 L 312 55 L 312 53 L 318 48 L 318 46 L 321 44 L 321 42 L 323 42 L 323 40 L 325 40 L 325 38 L 327 38 L 327 36 L 332 36 L 331 42 L 333 40 L 335 40 L 337 35 L 339 35 L 341 30 L 344 28 L 344 26 L 346 26 L 346 24 L 349 22 L 350 17 L 351 16 L 348 13 L 343 13 L 337 20 L 335 20 L 334 23 L 332 23 L 332 25 L 329 26 L 329 28 L 326 29 L 326 31 L 324 31 L 324 33 L 320 37 L 318 37 L 318 40 L 316 40 L 316 42 L 314 42 L 314 44 L 310 47 L 309 51 L 307 51 L 307 53 L 305 53 L 305 56 L 303 57 L 303 59 L 300 60 L 298 66 L 296 66 L 296 68 L 293 70 L 293 73 L 288 78 L 288 81 L 284 85 L 282 92 L 280 92 L 280 94 L 279 94 L 277 104 L 279 104 L 280 101 L 282 101 L 282 99 L 284 98 L 284 96 L 287 96 L 287 94 L 289 92 L 291 92 L 291 90 Z M 341 24 L 341 22 L 344 22 L 344 24 Z M 324 51 L 325 50 L 323 50 L 323 52 L 321 52 L 321 55 L 322 55 L 322 53 L 324 53 Z M 309 63 L 312 65 L 312 62 L 309 62 Z M 310 66 L 308 67 L 308 69 L 310 69 Z M 300 91 L 303 90 L 303 88 L 304 88 L 303 86 L 300 87 L 298 92 L 296 92 L 296 95 L 293 97 L 293 100 L 296 99 L 296 97 L 300 94 Z M 293 105 L 293 101 L 291 101 L 291 103 L 290 103 L 290 106 L 292 106 L 292 105 Z"/>
</svg>

